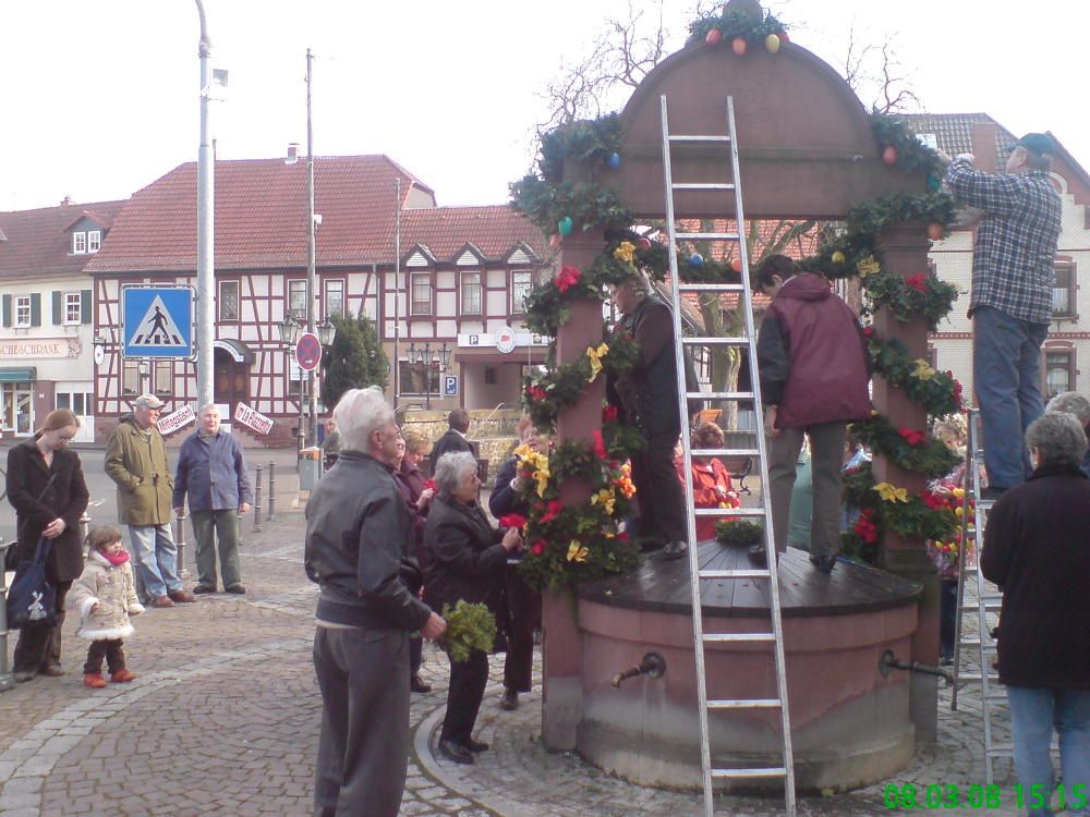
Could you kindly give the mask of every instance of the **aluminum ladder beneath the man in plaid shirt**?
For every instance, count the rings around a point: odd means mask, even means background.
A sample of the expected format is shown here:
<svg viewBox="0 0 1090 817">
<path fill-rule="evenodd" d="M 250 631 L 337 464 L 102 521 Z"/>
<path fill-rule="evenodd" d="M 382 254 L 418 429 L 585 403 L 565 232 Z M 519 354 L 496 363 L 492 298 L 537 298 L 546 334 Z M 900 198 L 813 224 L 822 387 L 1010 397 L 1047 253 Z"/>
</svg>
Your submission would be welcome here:
<svg viewBox="0 0 1090 817">
<path fill-rule="evenodd" d="M 995 638 L 992 637 L 992 626 L 989 614 L 997 615 L 1003 603 L 1003 594 L 995 585 L 984 578 L 980 572 L 980 554 L 984 546 L 984 526 L 988 523 L 988 512 L 994 504 L 991 500 L 980 499 L 980 464 L 983 462 L 984 450 L 981 446 L 980 410 L 969 410 L 969 439 L 966 446 L 965 459 L 965 497 L 961 500 L 961 547 L 958 553 L 957 581 L 957 624 L 954 632 L 954 687 L 950 690 L 950 709 L 957 709 L 958 690 L 964 683 L 980 684 L 980 714 L 983 721 L 984 741 L 984 782 L 994 782 L 994 760 L 997 757 L 1013 757 L 1014 744 L 997 744 L 992 740 L 993 707 L 1004 699 L 1000 676 L 992 671 L 992 660 L 996 656 Z M 969 527 L 969 511 L 971 502 L 976 501 L 976 523 Z M 969 562 L 966 542 L 973 537 L 974 558 Z M 976 599 L 966 601 L 966 584 L 972 583 Z M 977 617 L 977 635 L 966 636 L 964 633 L 964 614 L 968 612 Z M 974 651 L 979 661 L 979 671 L 964 671 L 961 649 Z"/>
</svg>

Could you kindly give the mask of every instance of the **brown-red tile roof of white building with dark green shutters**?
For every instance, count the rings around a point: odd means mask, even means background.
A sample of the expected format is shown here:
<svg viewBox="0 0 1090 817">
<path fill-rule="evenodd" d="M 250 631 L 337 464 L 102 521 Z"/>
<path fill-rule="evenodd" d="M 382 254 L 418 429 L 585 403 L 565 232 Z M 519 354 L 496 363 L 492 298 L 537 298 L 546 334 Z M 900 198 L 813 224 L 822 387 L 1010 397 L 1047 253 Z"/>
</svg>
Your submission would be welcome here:
<svg viewBox="0 0 1090 817">
<path fill-rule="evenodd" d="M 108 229 L 124 204 L 96 202 L 0 212 L 0 236 L 3 236 L 0 239 L 0 280 L 83 275 L 96 256 L 72 255 L 68 229 L 82 218 Z"/>
</svg>

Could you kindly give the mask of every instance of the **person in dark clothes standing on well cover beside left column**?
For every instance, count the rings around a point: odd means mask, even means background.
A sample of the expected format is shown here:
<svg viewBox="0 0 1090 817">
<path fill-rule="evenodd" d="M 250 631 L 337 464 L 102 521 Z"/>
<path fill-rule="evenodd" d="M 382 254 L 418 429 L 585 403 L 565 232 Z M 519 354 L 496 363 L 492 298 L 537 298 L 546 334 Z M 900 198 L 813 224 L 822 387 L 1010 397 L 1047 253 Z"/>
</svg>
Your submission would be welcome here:
<svg viewBox="0 0 1090 817">
<path fill-rule="evenodd" d="M 674 467 L 681 435 L 674 318 L 670 308 L 651 294 L 651 282 L 642 273 L 610 284 L 609 296 L 622 316 L 619 328 L 640 347 L 632 370 L 611 383 L 618 407 L 647 441 L 631 458 L 640 535 L 659 544 L 667 559 L 680 559 L 689 548 L 689 534 L 685 495 Z"/>
</svg>

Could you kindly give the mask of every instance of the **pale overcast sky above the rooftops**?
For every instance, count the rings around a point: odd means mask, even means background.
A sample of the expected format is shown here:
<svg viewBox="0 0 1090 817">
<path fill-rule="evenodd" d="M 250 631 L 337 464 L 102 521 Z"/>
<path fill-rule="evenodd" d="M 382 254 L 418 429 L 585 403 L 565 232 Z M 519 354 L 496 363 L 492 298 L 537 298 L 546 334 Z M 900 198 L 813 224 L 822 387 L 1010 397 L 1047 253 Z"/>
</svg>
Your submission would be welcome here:
<svg viewBox="0 0 1090 817">
<path fill-rule="evenodd" d="M 657 3 L 632 0 L 652 13 Z M 385 153 L 440 205 L 500 204 L 531 161 L 543 93 L 627 0 L 205 0 L 213 60 L 230 72 L 213 106 L 223 159 L 305 145 L 305 52 L 315 54 L 318 155 Z M 680 48 L 693 0 L 665 0 Z M 766 3 L 792 41 L 834 68 L 848 33 L 893 38 L 927 110 L 983 111 L 1021 134 L 1051 130 L 1090 168 L 1082 37 L 1087 4 L 1044 0 Z M 198 144 L 193 0 L 4 0 L 0 16 L 0 210 L 124 198 Z M 671 49 L 674 50 L 674 49 Z M 872 100 L 864 98 L 864 103 Z"/>
</svg>

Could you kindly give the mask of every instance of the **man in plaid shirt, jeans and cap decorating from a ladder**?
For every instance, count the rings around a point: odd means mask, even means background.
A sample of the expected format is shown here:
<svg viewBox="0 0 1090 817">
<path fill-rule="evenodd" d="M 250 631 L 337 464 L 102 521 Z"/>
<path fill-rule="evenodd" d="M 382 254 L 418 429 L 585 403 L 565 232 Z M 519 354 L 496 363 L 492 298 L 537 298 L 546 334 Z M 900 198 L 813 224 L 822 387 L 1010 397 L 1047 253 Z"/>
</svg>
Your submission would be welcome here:
<svg viewBox="0 0 1090 817">
<path fill-rule="evenodd" d="M 1055 151 L 1051 136 L 1030 133 L 1015 143 L 1006 173 L 974 169 L 971 155 L 958 156 L 946 170 L 954 195 L 984 211 L 973 249 L 969 317 L 991 498 L 1030 473 L 1021 440 L 1044 413 L 1041 344 L 1052 322 L 1061 228 L 1059 194 L 1049 178 Z"/>
</svg>

